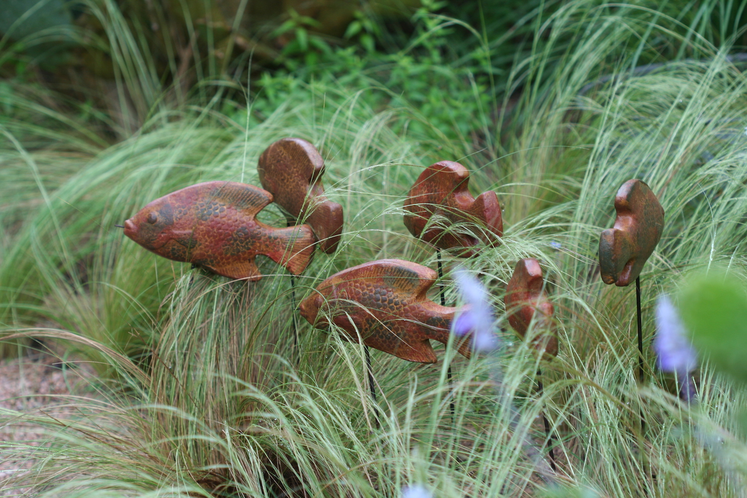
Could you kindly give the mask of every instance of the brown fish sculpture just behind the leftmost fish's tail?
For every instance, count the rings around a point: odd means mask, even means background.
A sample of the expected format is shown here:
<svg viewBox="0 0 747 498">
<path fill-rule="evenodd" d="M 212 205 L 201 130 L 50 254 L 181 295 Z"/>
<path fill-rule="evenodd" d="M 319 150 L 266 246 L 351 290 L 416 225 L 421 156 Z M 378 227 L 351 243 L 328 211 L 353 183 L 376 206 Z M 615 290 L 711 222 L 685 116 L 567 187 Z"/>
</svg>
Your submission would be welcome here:
<svg viewBox="0 0 747 498">
<path fill-rule="evenodd" d="M 262 187 L 288 214 L 288 222 L 309 223 L 320 248 L 335 252 L 342 234 L 342 206 L 324 196 L 324 160 L 317 149 L 300 138 L 283 138 L 262 152 L 257 172 Z"/>
</svg>

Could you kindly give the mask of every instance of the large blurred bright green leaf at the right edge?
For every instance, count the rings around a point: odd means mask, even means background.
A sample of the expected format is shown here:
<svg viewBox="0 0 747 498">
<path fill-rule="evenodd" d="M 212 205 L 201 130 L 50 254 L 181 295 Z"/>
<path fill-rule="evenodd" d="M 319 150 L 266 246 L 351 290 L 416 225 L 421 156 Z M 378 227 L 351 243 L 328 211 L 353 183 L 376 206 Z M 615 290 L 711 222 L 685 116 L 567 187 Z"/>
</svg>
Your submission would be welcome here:
<svg viewBox="0 0 747 498">
<path fill-rule="evenodd" d="M 747 384 L 747 293 L 735 278 L 710 273 L 692 278 L 680 293 L 692 343 L 713 365 Z"/>
</svg>

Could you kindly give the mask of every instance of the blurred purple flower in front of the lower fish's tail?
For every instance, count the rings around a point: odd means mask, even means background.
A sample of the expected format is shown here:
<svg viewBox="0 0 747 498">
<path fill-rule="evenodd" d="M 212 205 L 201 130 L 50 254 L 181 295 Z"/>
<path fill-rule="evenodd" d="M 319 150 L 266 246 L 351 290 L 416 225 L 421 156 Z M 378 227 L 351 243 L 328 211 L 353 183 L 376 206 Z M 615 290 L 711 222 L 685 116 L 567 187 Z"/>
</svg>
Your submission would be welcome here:
<svg viewBox="0 0 747 498">
<path fill-rule="evenodd" d="M 462 292 L 466 306 L 453 321 L 451 332 L 457 336 L 472 334 L 472 343 L 477 351 L 492 351 L 498 348 L 498 337 L 493 333 L 493 310 L 488 301 L 488 292 L 477 278 L 459 268 L 454 273 L 456 286 Z"/>
</svg>

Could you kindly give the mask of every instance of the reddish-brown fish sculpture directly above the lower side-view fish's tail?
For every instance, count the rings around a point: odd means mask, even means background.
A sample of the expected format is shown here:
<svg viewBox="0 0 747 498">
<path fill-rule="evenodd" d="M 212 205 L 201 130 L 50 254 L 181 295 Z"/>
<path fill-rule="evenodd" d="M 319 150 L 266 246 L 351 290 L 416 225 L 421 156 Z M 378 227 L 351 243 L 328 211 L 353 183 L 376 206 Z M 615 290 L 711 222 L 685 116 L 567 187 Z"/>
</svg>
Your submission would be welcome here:
<svg viewBox="0 0 747 498">
<path fill-rule="evenodd" d="M 405 226 L 415 237 L 439 249 L 467 248 L 459 255 L 476 254 L 479 243 L 476 237 L 459 228 L 436 225 L 430 218 L 434 214 L 445 217 L 450 223 L 468 222 L 474 231 L 481 232 L 483 243 L 496 246 L 503 236 L 503 217 L 495 192 L 481 193 L 475 199 L 468 190 L 469 172 L 459 163 L 441 161 L 428 166 L 415 181 L 405 201 Z M 426 226 L 428 225 L 428 228 Z"/>
</svg>

